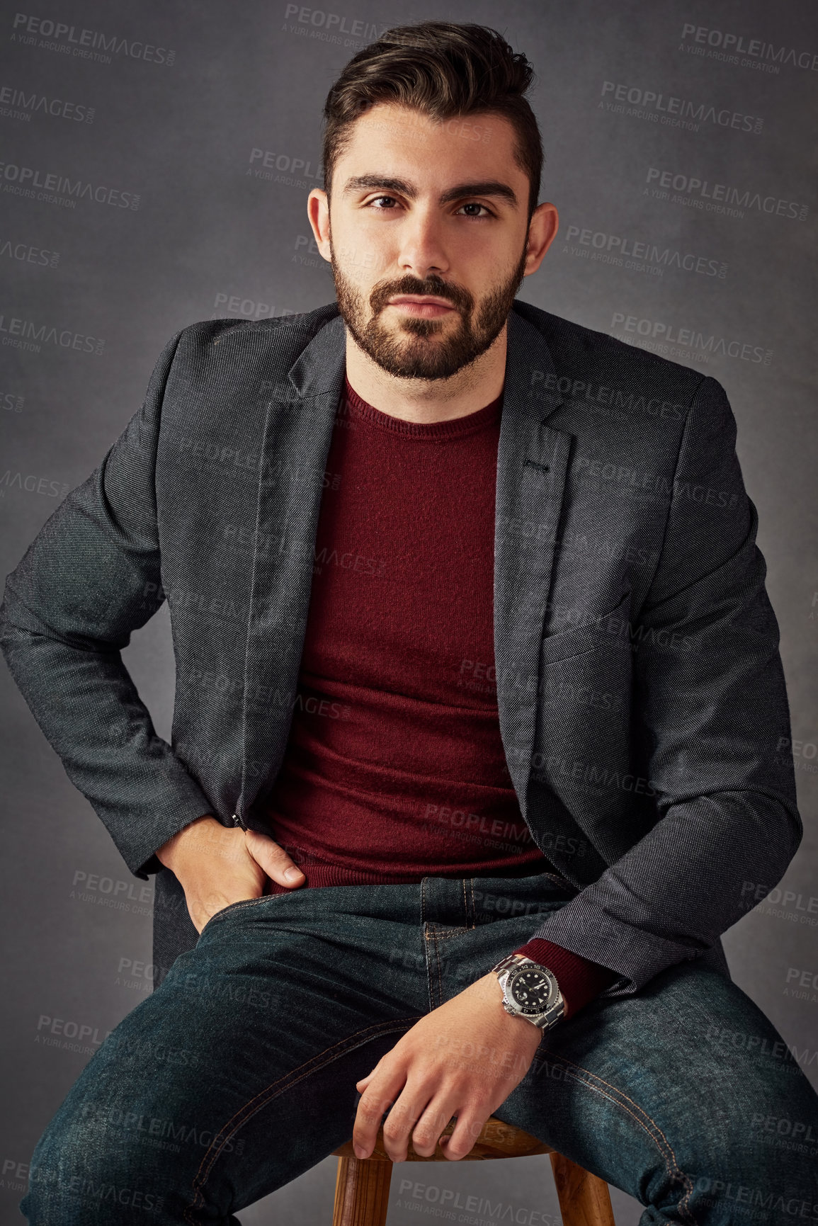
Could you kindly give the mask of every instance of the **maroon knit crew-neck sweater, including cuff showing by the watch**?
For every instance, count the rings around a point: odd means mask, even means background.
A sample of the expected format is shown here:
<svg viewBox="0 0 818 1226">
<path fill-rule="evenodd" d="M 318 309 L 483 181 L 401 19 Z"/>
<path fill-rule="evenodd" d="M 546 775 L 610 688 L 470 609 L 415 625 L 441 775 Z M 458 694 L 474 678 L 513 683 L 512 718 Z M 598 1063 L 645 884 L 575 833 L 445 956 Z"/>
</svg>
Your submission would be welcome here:
<svg viewBox="0 0 818 1226">
<path fill-rule="evenodd" d="M 502 396 L 455 421 L 405 422 L 346 383 L 267 798 L 299 889 L 554 872 L 520 812 L 497 714 L 500 413 Z M 553 970 L 570 1014 L 614 978 L 551 942 L 520 949 Z"/>
</svg>

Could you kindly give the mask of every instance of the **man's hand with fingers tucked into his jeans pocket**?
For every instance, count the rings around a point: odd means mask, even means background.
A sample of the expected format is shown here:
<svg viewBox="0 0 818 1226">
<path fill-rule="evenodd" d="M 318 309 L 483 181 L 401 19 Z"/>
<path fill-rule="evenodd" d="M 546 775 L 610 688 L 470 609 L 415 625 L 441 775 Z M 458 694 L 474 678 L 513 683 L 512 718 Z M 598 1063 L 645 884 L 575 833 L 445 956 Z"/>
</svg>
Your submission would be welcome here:
<svg viewBox="0 0 818 1226">
<path fill-rule="evenodd" d="M 178 878 L 199 933 L 231 902 L 261 897 L 267 878 L 289 888 L 307 880 L 272 839 L 255 830 L 223 826 L 210 814 L 168 839 L 156 855 Z"/>
</svg>

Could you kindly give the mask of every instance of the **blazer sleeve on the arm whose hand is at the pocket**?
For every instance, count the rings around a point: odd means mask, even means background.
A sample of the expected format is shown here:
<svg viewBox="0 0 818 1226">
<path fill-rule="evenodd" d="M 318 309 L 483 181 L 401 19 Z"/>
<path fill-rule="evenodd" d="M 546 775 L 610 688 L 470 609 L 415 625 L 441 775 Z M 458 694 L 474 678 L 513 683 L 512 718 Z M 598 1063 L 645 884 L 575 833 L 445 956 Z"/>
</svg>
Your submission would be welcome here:
<svg viewBox="0 0 818 1226">
<path fill-rule="evenodd" d="M 142 407 L 6 576 L 0 604 L 0 647 L 17 687 L 69 779 L 143 879 L 161 867 L 157 847 L 212 812 L 156 734 L 121 658 L 131 631 L 164 600 L 156 452 L 183 331 L 162 351 Z"/>
</svg>

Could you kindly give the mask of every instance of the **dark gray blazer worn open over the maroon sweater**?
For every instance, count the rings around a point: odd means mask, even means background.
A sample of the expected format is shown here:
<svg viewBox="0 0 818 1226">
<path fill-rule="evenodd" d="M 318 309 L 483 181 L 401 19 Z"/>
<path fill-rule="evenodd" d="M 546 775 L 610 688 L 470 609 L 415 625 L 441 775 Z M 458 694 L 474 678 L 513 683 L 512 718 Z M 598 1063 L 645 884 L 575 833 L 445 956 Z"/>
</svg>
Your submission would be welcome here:
<svg viewBox="0 0 818 1226">
<path fill-rule="evenodd" d="M 196 942 L 155 851 L 264 830 L 285 754 L 345 326 L 335 303 L 182 329 L 140 411 L 7 576 L 0 644 L 136 877 L 162 977 Z M 516 300 L 497 462 L 499 726 L 520 809 L 579 891 L 531 935 L 638 991 L 726 972 L 746 883 L 801 839 L 779 628 L 715 379 Z M 168 600 L 170 744 L 120 650 Z"/>
</svg>

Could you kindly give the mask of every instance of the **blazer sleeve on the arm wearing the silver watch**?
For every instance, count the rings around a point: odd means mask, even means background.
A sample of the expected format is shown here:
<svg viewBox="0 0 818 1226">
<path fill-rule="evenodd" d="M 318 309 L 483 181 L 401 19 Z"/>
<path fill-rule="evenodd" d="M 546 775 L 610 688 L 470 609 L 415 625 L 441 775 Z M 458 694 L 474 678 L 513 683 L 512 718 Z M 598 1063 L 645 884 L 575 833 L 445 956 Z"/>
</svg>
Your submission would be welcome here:
<svg viewBox="0 0 818 1226">
<path fill-rule="evenodd" d="M 727 396 L 705 378 L 630 626 L 632 736 L 657 820 L 532 933 L 617 971 L 605 996 L 630 994 L 710 949 L 746 913 L 747 883 L 771 889 L 802 836 L 792 759 L 780 749 L 790 710 L 779 626 L 735 444 Z"/>
</svg>

